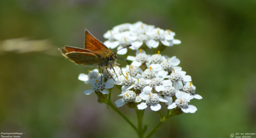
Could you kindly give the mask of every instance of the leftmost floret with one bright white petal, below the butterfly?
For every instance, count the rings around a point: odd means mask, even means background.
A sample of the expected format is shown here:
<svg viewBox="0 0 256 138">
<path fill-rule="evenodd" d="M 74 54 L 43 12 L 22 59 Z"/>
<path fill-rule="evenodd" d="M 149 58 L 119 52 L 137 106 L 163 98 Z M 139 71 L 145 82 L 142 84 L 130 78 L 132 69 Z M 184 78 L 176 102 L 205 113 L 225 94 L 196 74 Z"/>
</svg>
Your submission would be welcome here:
<svg viewBox="0 0 256 138">
<path fill-rule="evenodd" d="M 90 81 L 92 79 L 94 81 L 99 76 L 100 76 L 100 74 L 99 74 L 98 69 L 93 69 L 93 71 L 90 71 L 90 69 L 88 69 L 88 75 L 81 73 L 81 74 L 79 74 L 78 79 L 81 80 L 81 81 L 84 81 L 84 83 L 88 84 L 88 83 L 90 83 Z"/>
</svg>

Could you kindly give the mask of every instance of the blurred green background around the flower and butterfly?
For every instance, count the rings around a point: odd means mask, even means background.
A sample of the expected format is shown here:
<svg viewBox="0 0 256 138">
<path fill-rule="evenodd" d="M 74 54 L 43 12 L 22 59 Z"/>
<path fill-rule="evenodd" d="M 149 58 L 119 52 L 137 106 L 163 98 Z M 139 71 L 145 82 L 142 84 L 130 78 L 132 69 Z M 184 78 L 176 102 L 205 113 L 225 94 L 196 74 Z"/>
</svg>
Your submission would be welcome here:
<svg viewBox="0 0 256 138">
<path fill-rule="evenodd" d="M 255 13 L 254 0 L 2 0 L 0 132 L 31 138 L 137 137 L 122 118 L 97 103 L 95 94 L 83 94 L 90 85 L 77 76 L 88 68 L 65 60 L 58 48 L 82 47 L 85 28 L 104 41 L 103 34 L 115 25 L 140 20 L 176 32 L 181 45 L 163 55 L 181 60 L 203 97 L 191 102 L 195 114 L 169 119 L 153 137 L 255 133 Z M 29 44 L 31 52 L 12 50 L 20 43 Z M 131 109 L 120 109 L 136 123 Z M 149 129 L 158 119 L 146 111 Z"/>
</svg>

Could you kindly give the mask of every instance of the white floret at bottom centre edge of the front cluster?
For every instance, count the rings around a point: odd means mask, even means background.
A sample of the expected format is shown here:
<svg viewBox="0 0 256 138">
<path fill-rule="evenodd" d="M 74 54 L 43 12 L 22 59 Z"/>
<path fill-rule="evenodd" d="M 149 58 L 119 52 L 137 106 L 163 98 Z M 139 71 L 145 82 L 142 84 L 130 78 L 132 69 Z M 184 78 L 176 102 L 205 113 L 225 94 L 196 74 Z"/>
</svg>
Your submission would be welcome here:
<svg viewBox="0 0 256 138">
<path fill-rule="evenodd" d="M 140 93 L 140 97 L 145 102 L 138 104 L 138 109 L 143 110 L 150 106 L 152 111 L 159 111 L 161 109 L 161 104 L 159 102 L 168 102 L 168 100 L 163 99 L 163 97 L 157 95 L 157 93 Z"/>
</svg>

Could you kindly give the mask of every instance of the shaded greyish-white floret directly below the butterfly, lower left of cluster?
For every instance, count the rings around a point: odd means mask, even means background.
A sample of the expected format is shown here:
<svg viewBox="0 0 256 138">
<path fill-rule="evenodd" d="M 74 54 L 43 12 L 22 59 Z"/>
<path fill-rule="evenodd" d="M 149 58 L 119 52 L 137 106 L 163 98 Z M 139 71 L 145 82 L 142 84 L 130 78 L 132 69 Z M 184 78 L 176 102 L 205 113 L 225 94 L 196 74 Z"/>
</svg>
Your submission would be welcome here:
<svg viewBox="0 0 256 138">
<path fill-rule="evenodd" d="M 89 95 L 90 93 L 93 93 L 93 92 L 101 92 L 103 94 L 109 93 L 107 89 L 113 88 L 115 81 L 113 79 L 108 79 L 108 81 L 106 82 L 100 82 L 98 81 L 98 79 L 95 79 L 94 83 L 92 84 L 92 89 L 85 90 L 84 94 Z"/>
</svg>

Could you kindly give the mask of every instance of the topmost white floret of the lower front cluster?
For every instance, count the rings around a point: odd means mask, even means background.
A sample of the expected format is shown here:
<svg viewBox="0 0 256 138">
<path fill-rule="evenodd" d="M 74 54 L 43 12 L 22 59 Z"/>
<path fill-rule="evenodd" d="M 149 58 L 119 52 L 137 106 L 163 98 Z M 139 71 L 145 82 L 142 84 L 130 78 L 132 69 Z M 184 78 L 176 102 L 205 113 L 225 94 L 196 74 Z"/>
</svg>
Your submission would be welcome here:
<svg viewBox="0 0 256 138">
<path fill-rule="evenodd" d="M 141 64 L 148 62 L 148 56 L 144 50 L 140 49 L 136 51 L 136 57 L 128 56 L 127 60 L 132 61 L 132 66 L 140 67 Z"/>
</svg>

